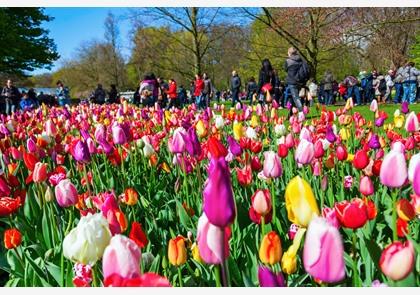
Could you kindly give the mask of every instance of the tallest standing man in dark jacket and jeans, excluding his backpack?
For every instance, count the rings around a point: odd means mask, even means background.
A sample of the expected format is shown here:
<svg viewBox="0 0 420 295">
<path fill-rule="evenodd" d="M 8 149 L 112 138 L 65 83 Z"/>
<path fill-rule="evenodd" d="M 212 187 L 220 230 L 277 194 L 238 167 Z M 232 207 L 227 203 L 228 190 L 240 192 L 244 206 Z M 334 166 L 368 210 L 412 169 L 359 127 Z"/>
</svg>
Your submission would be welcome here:
<svg viewBox="0 0 420 295">
<path fill-rule="evenodd" d="M 289 57 L 284 62 L 284 70 L 287 72 L 286 83 L 289 87 L 290 94 L 292 95 L 294 105 L 298 108 L 299 112 L 301 112 L 302 102 L 299 98 L 299 90 L 303 85 L 301 84 L 301 81 L 297 81 L 296 77 L 303 61 L 294 47 L 290 47 L 287 54 Z"/>
</svg>

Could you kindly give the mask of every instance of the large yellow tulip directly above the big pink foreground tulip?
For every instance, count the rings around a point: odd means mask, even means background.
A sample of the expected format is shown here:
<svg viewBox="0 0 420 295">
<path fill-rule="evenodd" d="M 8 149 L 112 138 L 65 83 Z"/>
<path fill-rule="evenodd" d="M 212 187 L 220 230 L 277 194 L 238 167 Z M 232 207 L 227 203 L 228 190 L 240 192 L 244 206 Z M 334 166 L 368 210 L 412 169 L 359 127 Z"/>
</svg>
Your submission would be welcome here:
<svg viewBox="0 0 420 295">
<path fill-rule="evenodd" d="M 307 227 L 319 209 L 312 189 L 304 179 L 296 176 L 290 180 L 285 193 L 287 217 L 299 226 Z"/>
</svg>

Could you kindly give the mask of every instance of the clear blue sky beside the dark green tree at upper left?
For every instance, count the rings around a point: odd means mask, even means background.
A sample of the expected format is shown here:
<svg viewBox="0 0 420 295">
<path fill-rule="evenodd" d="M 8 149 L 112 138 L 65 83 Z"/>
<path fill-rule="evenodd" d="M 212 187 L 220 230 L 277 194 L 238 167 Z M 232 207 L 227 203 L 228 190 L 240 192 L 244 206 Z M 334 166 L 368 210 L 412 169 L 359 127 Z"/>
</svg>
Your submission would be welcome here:
<svg viewBox="0 0 420 295">
<path fill-rule="evenodd" d="M 97 7 L 97 8 L 45 8 L 44 12 L 54 17 L 54 20 L 43 23 L 42 27 L 50 31 L 49 37 L 54 39 L 57 45 L 57 51 L 60 54 L 52 68 L 56 70 L 62 64 L 63 60 L 74 57 L 77 48 L 85 41 L 93 39 L 104 39 L 104 21 L 108 12 L 115 16 L 127 16 L 128 8 Z M 128 20 L 122 20 L 119 23 L 121 34 L 122 53 L 129 55 L 128 38 L 130 23 Z M 38 69 L 31 74 L 42 74 L 50 72 L 47 69 Z"/>
</svg>

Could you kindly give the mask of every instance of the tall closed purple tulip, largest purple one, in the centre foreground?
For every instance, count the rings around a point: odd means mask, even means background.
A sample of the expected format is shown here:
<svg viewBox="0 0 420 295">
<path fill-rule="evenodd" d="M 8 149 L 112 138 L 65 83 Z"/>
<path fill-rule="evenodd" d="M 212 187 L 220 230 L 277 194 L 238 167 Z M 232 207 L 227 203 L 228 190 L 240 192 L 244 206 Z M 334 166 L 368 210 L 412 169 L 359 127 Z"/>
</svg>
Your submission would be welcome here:
<svg viewBox="0 0 420 295">
<path fill-rule="evenodd" d="M 230 171 L 223 157 L 211 158 L 203 191 L 203 211 L 211 224 L 226 227 L 236 216 Z"/>
</svg>

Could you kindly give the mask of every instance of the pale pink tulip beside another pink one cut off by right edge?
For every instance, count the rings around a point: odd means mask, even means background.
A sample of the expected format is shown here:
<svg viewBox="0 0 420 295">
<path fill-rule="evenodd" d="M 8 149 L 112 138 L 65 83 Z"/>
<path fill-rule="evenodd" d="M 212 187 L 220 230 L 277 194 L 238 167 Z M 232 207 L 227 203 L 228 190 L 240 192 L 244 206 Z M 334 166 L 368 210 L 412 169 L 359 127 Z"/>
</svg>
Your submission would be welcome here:
<svg viewBox="0 0 420 295">
<path fill-rule="evenodd" d="M 379 174 L 387 187 L 401 187 L 407 180 L 407 163 L 399 149 L 392 149 L 384 158 Z"/>
</svg>

